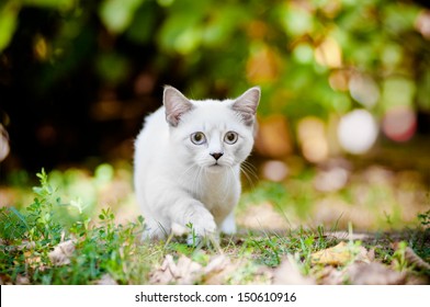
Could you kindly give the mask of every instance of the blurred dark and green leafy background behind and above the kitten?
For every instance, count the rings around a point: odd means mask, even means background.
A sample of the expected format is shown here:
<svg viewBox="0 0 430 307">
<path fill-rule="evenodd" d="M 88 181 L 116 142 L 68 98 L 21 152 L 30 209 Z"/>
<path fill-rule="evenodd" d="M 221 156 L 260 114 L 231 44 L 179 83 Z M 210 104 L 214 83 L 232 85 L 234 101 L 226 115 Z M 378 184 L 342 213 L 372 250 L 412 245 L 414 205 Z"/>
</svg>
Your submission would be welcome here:
<svg viewBox="0 0 430 307">
<path fill-rule="evenodd" d="M 306 151 L 298 130 L 309 116 L 320 120 L 310 127 L 322 135 L 322 150 L 339 154 L 333 130 L 354 109 L 369 111 L 383 128 L 384 118 L 409 128 L 385 128 L 383 140 L 387 135 L 409 140 L 416 132 L 427 136 L 425 5 L 386 0 L 2 1 L 1 121 L 12 141 L 3 169 L 38 171 L 91 156 L 129 159 L 133 137 L 143 116 L 160 105 L 163 84 L 195 99 L 236 96 L 261 86 L 262 125 L 284 130 L 281 141 L 260 146 L 269 158 Z"/>
</svg>

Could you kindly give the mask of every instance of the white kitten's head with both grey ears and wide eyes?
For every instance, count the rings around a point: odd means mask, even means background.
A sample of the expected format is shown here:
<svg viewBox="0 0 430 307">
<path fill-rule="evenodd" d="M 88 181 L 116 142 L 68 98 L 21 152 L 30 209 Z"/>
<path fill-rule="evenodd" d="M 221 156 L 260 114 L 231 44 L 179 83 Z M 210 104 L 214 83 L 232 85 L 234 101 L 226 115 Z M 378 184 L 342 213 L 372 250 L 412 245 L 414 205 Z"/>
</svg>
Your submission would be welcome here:
<svg viewBox="0 0 430 307">
<path fill-rule="evenodd" d="M 259 101 L 259 88 L 235 100 L 195 101 L 166 87 L 166 121 L 177 154 L 214 172 L 241 163 L 252 150 Z"/>
</svg>

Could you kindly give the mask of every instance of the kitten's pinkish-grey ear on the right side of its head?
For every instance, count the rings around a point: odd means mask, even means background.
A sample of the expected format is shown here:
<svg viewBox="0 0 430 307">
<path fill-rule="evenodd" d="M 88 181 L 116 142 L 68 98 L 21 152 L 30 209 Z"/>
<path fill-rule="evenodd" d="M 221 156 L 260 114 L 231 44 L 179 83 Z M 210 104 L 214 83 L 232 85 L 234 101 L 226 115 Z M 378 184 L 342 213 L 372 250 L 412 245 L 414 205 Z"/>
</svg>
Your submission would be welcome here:
<svg viewBox="0 0 430 307">
<path fill-rule="evenodd" d="M 257 113 L 257 106 L 260 102 L 261 90 L 259 87 L 254 87 L 246 91 L 241 96 L 236 99 L 233 104 L 233 110 L 238 112 L 244 118 L 244 123 L 248 126 L 254 122 Z"/>
</svg>

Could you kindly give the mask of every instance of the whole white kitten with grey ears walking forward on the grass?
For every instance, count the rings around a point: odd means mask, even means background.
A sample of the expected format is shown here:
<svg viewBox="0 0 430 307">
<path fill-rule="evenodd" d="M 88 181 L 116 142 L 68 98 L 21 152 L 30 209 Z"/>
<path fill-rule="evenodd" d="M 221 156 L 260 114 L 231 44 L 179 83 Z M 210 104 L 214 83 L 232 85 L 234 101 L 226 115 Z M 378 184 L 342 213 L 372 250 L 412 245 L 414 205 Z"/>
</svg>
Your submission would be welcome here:
<svg viewBox="0 0 430 307">
<path fill-rule="evenodd" d="M 163 106 L 136 139 L 135 191 L 147 232 L 192 224 L 196 236 L 236 231 L 240 163 L 251 152 L 260 89 L 236 100 L 186 99 L 166 87 Z"/>
</svg>

